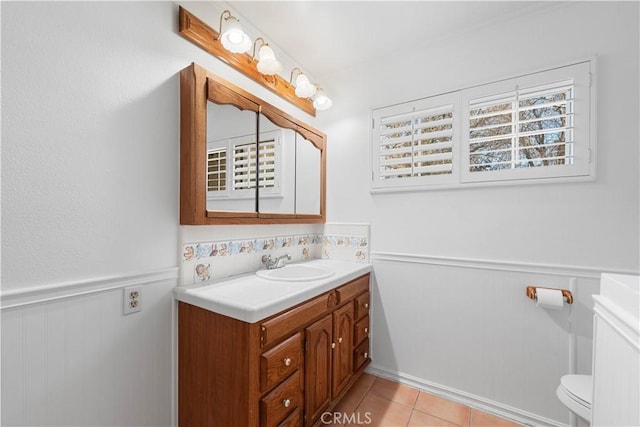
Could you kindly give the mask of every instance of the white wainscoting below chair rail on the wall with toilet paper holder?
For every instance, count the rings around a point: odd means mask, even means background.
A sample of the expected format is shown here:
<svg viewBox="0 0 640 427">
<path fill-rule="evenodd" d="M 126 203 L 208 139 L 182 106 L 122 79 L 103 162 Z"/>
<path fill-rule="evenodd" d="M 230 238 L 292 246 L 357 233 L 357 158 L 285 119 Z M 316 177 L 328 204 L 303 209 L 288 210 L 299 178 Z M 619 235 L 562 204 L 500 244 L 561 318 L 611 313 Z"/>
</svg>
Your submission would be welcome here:
<svg viewBox="0 0 640 427">
<path fill-rule="evenodd" d="M 598 274 L 378 252 L 371 258 L 373 372 L 520 422 L 569 421 L 555 389 L 562 375 L 591 371 Z M 573 287 L 574 304 L 538 308 L 527 285 Z"/>
</svg>

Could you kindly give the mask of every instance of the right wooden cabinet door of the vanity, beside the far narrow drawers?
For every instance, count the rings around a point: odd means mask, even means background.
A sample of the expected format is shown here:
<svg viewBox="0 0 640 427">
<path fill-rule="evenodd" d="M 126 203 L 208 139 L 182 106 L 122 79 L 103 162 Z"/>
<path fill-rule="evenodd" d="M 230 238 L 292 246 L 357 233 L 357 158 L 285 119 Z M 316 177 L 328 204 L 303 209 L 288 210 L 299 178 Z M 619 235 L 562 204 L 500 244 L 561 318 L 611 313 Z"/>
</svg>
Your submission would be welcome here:
<svg viewBox="0 0 640 427">
<path fill-rule="evenodd" d="M 353 373 L 353 303 L 333 312 L 333 381 L 332 397 L 349 383 Z"/>
</svg>

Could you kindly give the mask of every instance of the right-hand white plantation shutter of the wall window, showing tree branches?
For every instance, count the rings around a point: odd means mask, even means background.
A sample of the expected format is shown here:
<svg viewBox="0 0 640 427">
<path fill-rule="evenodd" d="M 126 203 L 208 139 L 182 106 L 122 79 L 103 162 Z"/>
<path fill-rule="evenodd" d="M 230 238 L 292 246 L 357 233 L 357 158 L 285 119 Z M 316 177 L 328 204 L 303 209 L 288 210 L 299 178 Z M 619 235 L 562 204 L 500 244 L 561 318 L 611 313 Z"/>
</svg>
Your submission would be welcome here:
<svg viewBox="0 0 640 427">
<path fill-rule="evenodd" d="M 584 62 L 463 91 L 462 182 L 593 176 Z"/>
</svg>

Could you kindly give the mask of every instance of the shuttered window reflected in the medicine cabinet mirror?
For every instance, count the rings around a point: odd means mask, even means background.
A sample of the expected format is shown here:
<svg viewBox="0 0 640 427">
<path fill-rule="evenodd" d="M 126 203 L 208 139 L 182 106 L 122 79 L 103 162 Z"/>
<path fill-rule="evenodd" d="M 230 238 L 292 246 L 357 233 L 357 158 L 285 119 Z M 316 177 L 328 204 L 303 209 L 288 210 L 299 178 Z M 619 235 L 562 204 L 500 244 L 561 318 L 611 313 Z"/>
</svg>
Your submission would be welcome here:
<svg viewBox="0 0 640 427">
<path fill-rule="evenodd" d="M 253 137 L 235 137 L 207 144 L 207 197 L 253 198 L 256 169 L 260 188 L 277 194 L 280 172 L 280 135 L 265 132 L 260 141 L 260 159 L 256 166 L 256 143 Z M 230 164 L 227 158 L 231 158 Z"/>
</svg>

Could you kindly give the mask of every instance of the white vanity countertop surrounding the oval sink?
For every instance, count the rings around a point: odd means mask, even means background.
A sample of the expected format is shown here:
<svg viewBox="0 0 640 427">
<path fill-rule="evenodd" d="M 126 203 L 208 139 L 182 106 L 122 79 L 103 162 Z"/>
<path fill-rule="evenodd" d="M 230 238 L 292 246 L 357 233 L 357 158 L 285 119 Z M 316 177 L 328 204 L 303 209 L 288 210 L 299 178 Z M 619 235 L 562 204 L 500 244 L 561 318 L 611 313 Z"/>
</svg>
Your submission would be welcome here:
<svg viewBox="0 0 640 427">
<path fill-rule="evenodd" d="M 180 286 L 174 289 L 174 295 L 178 301 L 254 323 L 371 271 L 371 264 L 328 259 L 290 265 L 301 264 L 327 269 L 334 274 L 320 280 L 292 282 L 263 279 L 249 273 Z"/>
</svg>

